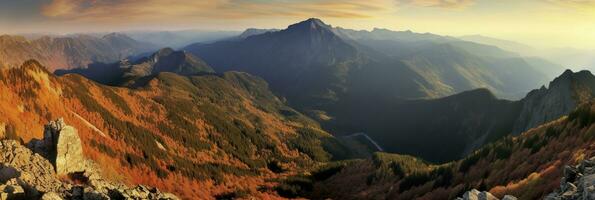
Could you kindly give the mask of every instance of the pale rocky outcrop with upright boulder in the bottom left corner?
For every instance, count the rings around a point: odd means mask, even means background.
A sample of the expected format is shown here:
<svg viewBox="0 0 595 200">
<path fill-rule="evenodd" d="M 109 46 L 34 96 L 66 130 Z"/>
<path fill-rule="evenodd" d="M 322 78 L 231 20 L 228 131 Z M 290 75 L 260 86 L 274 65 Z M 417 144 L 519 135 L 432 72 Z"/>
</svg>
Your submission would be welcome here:
<svg viewBox="0 0 595 200">
<path fill-rule="evenodd" d="M 48 124 L 44 139 L 28 146 L 0 141 L 0 199 L 178 199 L 156 188 L 103 179 L 84 159 L 76 129 L 63 120 Z"/>
</svg>

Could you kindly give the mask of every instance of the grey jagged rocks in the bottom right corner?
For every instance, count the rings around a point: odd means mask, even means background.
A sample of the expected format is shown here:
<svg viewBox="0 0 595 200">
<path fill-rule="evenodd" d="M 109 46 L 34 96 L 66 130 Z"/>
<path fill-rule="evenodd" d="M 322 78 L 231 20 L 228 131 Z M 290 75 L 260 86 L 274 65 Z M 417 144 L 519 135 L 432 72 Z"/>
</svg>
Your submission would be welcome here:
<svg viewBox="0 0 595 200">
<path fill-rule="evenodd" d="M 595 157 L 576 166 L 564 167 L 560 188 L 549 194 L 547 200 L 595 199 Z"/>
</svg>

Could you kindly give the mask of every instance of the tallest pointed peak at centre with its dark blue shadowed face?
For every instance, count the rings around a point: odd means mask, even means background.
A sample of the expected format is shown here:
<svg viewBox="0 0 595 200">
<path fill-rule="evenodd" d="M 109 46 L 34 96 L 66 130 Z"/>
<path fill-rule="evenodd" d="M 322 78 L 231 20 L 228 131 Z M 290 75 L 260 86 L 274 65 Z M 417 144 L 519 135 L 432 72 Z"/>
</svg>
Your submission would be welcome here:
<svg viewBox="0 0 595 200">
<path fill-rule="evenodd" d="M 376 85 L 364 80 L 369 80 L 370 76 L 366 75 L 378 73 L 411 77 L 407 80 L 375 79 L 389 87 L 414 88 L 379 88 L 391 97 L 425 96 L 415 90 L 417 83 L 411 80 L 418 76 L 402 63 L 380 62 L 362 55 L 357 47 L 337 36 L 332 27 L 319 19 L 309 19 L 285 30 L 244 40 L 195 44 L 185 49 L 205 59 L 217 71 L 238 70 L 261 76 L 292 105 L 308 109 L 333 104 L 349 93 L 351 86 L 375 88 Z"/>
</svg>

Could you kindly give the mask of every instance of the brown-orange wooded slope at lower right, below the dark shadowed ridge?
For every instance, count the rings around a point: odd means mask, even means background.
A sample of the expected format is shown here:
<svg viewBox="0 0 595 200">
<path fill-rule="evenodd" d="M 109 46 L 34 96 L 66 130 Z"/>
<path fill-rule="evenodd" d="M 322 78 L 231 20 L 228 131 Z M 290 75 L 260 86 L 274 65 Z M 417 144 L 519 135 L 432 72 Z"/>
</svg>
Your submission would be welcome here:
<svg viewBox="0 0 595 200">
<path fill-rule="evenodd" d="M 314 189 L 302 190 L 296 196 L 446 200 L 476 188 L 498 198 L 509 194 L 519 199 L 543 199 L 558 188 L 563 174 L 571 174 L 564 170 L 565 165 L 595 155 L 593 105 L 582 104 L 569 117 L 519 136 L 507 136 L 464 159 L 442 165 L 386 153 L 329 164 L 321 172 L 305 176 L 310 182 L 302 183 Z"/>
</svg>

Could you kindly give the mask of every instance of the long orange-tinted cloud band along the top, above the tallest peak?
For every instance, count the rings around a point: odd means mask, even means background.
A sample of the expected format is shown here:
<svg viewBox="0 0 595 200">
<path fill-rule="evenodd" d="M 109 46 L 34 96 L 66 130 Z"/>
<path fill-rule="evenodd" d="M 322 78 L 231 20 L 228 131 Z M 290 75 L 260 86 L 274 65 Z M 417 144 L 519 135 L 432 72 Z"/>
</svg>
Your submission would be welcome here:
<svg viewBox="0 0 595 200">
<path fill-rule="evenodd" d="M 41 13 L 69 21 L 368 18 L 393 4 L 393 0 L 52 0 Z"/>
</svg>

